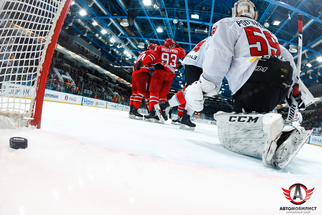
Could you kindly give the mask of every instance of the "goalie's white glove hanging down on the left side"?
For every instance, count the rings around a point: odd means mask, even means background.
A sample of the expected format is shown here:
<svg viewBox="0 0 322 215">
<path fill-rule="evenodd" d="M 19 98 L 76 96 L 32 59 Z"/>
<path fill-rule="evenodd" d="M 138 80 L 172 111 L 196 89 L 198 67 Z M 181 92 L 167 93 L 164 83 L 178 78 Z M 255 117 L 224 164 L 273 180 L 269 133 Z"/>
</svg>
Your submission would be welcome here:
<svg viewBox="0 0 322 215">
<path fill-rule="evenodd" d="M 204 96 L 211 97 L 217 95 L 217 89 L 218 87 L 214 83 L 204 79 L 201 74 L 199 81 L 194 82 L 185 90 L 187 105 L 194 111 L 202 111 L 204 109 Z"/>
</svg>

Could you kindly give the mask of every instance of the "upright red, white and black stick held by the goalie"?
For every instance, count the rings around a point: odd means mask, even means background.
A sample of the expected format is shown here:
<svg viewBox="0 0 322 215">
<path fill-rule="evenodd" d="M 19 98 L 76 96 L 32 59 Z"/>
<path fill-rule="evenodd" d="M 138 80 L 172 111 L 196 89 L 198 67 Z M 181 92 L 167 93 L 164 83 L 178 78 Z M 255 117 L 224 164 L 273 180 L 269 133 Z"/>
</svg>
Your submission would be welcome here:
<svg viewBox="0 0 322 215">
<path fill-rule="evenodd" d="M 297 65 L 296 83 L 294 84 L 293 95 L 291 96 L 292 104 L 289 107 L 289 114 L 287 116 L 288 120 L 291 120 L 292 118 L 294 118 L 295 114 L 298 112 L 298 103 L 295 100 L 294 96 L 298 95 L 299 78 L 300 78 L 300 72 L 301 72 L 303 15 L 298 14 L 297 17 L 298 17 L 298 65 Z"/>
</svg>

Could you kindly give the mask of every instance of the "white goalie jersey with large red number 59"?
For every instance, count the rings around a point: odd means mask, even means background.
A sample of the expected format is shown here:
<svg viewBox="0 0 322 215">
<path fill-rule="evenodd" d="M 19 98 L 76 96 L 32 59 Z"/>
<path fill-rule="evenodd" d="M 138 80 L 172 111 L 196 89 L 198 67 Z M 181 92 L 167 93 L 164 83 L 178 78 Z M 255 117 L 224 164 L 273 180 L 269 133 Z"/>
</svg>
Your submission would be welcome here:
<svg viewBox="0 0 322 215">
<path fill-rule="evenodd" d="M 297 71 L 293 56 L 279 45 L 275 35 L 250 18 L 221 19 L 213 25 L 202 66 L 203 77 L 216 86 L 221 86 L 223 77 L 226 77 L 234 94 L 251 76 L 258 62 L 256 56 L 265 55 L 284 56 L 290 61 L 293 86 Z"/>
</svg>

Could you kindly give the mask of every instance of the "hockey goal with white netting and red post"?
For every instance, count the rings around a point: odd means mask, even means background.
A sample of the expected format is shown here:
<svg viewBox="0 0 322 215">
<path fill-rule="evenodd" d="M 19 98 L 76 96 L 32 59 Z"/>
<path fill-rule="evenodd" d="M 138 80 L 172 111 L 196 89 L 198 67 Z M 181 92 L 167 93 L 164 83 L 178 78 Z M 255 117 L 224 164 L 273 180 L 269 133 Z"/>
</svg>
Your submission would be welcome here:
<svg viewBox="0 0 322 215">
<path fill-rule="evenodd" d="M 0 0 L 0 128 L 40 128 L 52 54 L 72 0 Z"/>
</svg>

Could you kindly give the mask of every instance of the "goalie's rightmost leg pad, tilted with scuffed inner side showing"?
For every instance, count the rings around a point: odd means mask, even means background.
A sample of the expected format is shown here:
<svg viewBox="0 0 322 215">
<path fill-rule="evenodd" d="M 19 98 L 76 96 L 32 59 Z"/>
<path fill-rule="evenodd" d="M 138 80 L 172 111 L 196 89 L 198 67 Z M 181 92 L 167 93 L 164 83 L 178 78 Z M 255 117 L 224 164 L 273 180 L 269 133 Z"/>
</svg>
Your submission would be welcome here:
<svg viewBox="0 0 322 215">
<path fill-rule="evenodd" d="M 300 126 L 295 127 L 296 128 L 289 133 L 289 137 L 281 143 L 271 159 L 272 166 L 277 169 L 283 169 L 290 163 L 313 132 L 312 130 L 306 131 Z"/>
</svg>

